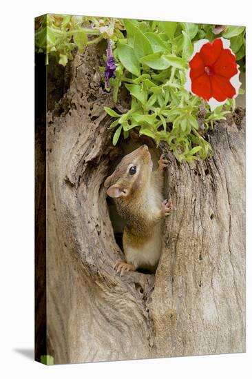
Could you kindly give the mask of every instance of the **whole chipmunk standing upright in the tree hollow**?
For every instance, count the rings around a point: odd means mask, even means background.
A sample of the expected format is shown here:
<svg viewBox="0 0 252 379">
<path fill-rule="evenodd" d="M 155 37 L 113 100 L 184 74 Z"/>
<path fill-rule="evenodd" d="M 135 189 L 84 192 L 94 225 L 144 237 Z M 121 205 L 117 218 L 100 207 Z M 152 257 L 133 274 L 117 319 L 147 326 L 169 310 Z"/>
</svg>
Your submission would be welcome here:
<svg viewBox="0 0 252 379">
<path fill-rule="evenodd" d="M 105 180 L 107 195 L 114 198 L 118 214 L 126 222 L 123 251 L 126 262 L 116 262 L 116 274 L 123 276 L 138 268 L 156 270 L 162 248 L 162 219 L 173 209 L 171 200 L 162 200 L 163 169 L 168 161 L 162 154 L 158 169 L 147 145 L 142 145 L 120 161 Z"/>
</svg>

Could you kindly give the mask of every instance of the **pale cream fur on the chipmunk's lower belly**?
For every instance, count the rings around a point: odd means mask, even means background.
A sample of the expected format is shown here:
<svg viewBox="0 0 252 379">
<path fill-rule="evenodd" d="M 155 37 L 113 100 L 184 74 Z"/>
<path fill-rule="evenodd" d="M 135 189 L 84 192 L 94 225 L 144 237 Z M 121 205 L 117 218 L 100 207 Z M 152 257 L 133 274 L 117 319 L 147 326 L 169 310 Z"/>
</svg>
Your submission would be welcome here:
<svg viewBox="0 0 252 379">
<path fill-rule="evenodd" d="M 127 249 L 125 249 L 127 263 L 134 265 L 136 268 L 155 266 L 158 263 L 162 247 L 161 227 L 161 223 L 154 227 L 153 236 L 145 245 L 139 248 L 127 246 Z"/>
</svg>

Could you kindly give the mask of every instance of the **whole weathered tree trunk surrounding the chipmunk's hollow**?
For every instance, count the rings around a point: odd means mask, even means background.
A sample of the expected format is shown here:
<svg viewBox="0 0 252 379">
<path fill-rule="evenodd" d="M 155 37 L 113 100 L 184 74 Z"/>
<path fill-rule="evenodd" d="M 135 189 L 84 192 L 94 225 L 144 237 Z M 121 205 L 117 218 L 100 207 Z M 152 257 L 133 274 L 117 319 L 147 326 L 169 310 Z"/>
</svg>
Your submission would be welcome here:
<svg viewBox="0 0 252 379">
<path fill-rule="evenodd" d="M 162 145 L 176 207 L 162 257 L 156 275 L 120 278 L 103 187 L 116 154 L 103 107 L 115 105 L 101 57 L 91 47 L 75 57 L 48 112 L 48 354 L 70 363 L 244 351 L 244 121 L 215 127 L 204 162 L 178 163 Z"/>
</svg>

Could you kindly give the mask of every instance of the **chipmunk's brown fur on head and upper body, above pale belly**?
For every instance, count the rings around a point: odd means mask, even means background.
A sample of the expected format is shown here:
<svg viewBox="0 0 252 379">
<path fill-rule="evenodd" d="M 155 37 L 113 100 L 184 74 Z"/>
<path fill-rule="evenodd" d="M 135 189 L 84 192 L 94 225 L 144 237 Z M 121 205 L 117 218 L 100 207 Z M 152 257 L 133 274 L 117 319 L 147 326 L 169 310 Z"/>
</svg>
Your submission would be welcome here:
<svg viewBox="0 0 252 379">
<path fill-rule="evenodd" d="M 136 174 L 129 167 L 136 165 Z M 126 221 L 123 247 L 144 247 L 154 233 L 154 226 L 164 217 L 162 204 L 162 170 L 152 172 L 151 155 L 146 145 L 127 154 L 105 181 L 107 193 L 114 197 L 118 214 Z M 149 193 L 160 197 L 160 209 L 151 208 Z M 114 191 L 114 192 L 113 192 Z"/>
</svg>

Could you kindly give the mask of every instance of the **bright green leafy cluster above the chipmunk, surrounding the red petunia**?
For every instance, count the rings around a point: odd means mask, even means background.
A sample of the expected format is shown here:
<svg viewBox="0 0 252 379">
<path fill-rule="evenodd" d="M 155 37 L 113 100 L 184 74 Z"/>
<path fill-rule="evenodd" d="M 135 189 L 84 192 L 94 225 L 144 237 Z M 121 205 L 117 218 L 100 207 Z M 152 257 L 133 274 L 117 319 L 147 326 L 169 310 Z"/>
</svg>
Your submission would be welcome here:
<svg viewBox="0 0 252 379">
<path fill-rule="evenodd" d="M 113 144 L 120 134 L 128 136 L 129 130 L 139 128 L 156 141 L 166 141 L 178 161 L 193 161 L 213 154 L 204 131 L 233 109 L 234 101 L 227 101 L 211 112 L 207 103 L 185 90 L 185 73 L 193 52 L 193 42 L 206 38 L 212 41 L 214 25 L 175 23 L 166 21 L 124 20 L 127 34 L 114 38 L 117 57 L 116 79 L 111 85 L 117 93 L 124 85 L 132 97 L 130 109 L 115 117 L 110 126 L 115 129 Z M 244 28 L 225 28 L 223 35 L 240 52 L 244 46 Z M 242 54 L 240 55 L 242 59 Z M 199 129 L 198 112 L 204 110 L 204 124 Z"/>
</svg>

